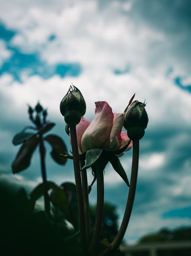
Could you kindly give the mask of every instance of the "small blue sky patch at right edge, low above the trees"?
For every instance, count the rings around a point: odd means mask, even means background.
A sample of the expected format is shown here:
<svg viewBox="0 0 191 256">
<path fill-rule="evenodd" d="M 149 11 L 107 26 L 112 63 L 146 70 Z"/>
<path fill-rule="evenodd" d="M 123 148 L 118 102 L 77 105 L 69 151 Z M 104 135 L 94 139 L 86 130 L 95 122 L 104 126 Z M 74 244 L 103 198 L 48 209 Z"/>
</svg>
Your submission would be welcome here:
<svg viewBox="0 0 191 256">
<path fill-rule="evenodd" d="M 163 218 L 191 218 L 191 206 L 173 209 L 163 213 Z"/>
</svg>

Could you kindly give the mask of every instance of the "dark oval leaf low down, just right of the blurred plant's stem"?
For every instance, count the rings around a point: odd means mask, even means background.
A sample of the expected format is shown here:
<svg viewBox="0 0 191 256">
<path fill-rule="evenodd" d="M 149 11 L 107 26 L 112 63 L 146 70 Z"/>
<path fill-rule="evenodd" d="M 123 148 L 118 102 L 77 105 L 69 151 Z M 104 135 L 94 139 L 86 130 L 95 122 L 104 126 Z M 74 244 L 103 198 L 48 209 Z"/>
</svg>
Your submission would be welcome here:
<svg viewBox="0 0 191 256">
<path fill-rule="evenodd" d="M 66 193 L 62 188 L 56 188 L 50 194 L 50 201 L 53 205 L 60 208 L 61 211 L 65 214 L 66 218 L 69 216 L 69 203 Z"/>
</svg>

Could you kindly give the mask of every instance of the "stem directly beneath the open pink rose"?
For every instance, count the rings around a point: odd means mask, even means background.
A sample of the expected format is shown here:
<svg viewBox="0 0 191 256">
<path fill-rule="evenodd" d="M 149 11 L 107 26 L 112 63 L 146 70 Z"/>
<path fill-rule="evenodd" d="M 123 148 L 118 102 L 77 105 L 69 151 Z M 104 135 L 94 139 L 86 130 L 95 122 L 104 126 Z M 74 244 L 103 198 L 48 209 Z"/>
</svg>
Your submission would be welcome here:
<svg viewBox="0 0 191 256">
<path fill-rule="evenodd" d="M 96 175 L 97 175 L 97 208 L 95 216 L 94 232 L 92 235 L 92 241 L 90 244 L 90 252 L 94 254 L 97 242 L 99 240 L 99 235 L 102 226 L 102 217 L 104 209 L 104 171 L 103 168 L 98 168 L 96 165 Z"/>
</svg>

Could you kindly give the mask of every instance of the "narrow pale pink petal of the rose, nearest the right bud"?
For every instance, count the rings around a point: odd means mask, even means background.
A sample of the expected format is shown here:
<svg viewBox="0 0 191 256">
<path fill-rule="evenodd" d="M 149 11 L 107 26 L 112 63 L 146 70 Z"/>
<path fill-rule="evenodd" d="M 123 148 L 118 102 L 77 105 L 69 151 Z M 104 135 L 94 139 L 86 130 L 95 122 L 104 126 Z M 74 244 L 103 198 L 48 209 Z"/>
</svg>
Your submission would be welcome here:
<svg viewBox="0 0 191 256">
<path fill-rule="evenodd" d="M 120 145 L 116 143 L 118 142 L 116 136 L 121 132 L 125 116 L 124 113 L 114 113 L 113 115 L 113 126 L 110 133 L 110 149 L 115 150 Z"/>
</svg>

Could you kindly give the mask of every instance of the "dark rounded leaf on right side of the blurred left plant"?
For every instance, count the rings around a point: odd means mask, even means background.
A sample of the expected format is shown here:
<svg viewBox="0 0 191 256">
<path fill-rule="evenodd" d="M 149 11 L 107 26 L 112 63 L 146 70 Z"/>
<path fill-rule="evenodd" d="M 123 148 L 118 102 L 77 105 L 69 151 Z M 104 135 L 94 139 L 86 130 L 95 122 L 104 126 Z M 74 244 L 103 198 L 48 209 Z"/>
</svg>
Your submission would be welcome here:
<svg viewBox="0 0 191 256">
<path fill-rule="evenodd" d="M 66 158 L 60 155 L 61 152 L 66 152 L 66 145 L 63 140 L 57 135 L 47 135 L 44 138 L 52 146 L 52 152 L 50 153 L 52 158 L 58 163 L 64 165 Z"/>
</svg>

